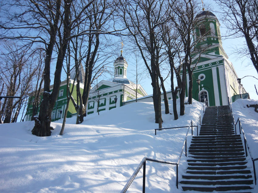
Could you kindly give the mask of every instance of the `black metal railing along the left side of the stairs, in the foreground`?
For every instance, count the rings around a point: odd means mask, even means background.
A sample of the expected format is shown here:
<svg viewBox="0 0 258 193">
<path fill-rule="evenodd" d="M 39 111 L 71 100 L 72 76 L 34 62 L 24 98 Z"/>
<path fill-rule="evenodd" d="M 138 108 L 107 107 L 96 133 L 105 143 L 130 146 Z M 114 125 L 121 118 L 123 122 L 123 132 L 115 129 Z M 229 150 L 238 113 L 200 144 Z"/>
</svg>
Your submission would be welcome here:
<svg viewBox="0 0 258 193">
<path fill-rule="evenodd" d="M 186 126 L 187 127 L 187 126 Z M 131 183 L 133 182 L 134 178 L 136 177 L 136 175 L 138 174 L 138 172 L 140 171 L 140 169 L 142 168 L 143 166 L 143 183 L 142 183 L 142 192 L 145 193 L 145 167 L 146 167 L 146 161 L 154 161 L 154 162 L 158 162 L 158 163 L 164 163 L 164 164 L 170 164 L 170 165 L 176 165 L 176 187 L 178 188 L 178 165 L 179 165 L 179 161 L 181 159 L 181 156 L 182 156 L 182 153 L 184 151 L 184 148 L 185 148 L 185 156 L 187 157 L 187 135 L 188 135 L 188 132 L 189 132 L 189 129 L 190 127 L 194 127 L 192 126 L 192 120 L 191 122 L 189 123 L 189 126 L 188 126 L 188 129 L 187 129 L 187 132 L 185 134 L 185 140 L 184 140 L 184 143 L 183 143 L 183 146 L 182 146 L 182 150 L 181 150 L 181 153 L 180 153 L 180 156 L 178 158 L 178 161 L 175 163 L 175 162 L 168 162 L 168 161 L 159 161 L 159 160 L 154 160 L 154 159 L 150 159 L 150 158 L 146 158 L 144 157 L 141 161 L 141 163 L 138 165 L 138 167 L 136 168 L 136 170 L 134 171 L 133 175 L 131 176 L 131 178 L 129 179 L 129 181 L 126 183 L 126 185 L 124 186 L 123 190 L 121 191 L 121 193 L 124 193 L 127 191 L 127 189 L 129 188 L 129 186 L 131 185 Z M 181 128 L 181 127 L 179 127 Z M 162 129 L 168 129 L 168 128 L 162 128 Z M 159 130 L 159 129 L 157 129 Z M 155 130 L 156 131 L 156 130 Z"/>
</svg>

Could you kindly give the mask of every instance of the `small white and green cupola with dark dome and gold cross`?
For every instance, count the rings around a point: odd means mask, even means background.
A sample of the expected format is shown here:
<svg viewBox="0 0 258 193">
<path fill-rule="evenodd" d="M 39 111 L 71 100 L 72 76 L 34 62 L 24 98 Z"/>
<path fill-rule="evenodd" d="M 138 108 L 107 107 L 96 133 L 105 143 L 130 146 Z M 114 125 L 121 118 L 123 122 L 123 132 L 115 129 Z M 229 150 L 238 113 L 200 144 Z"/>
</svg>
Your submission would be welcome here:
<svg viewBox="0 0 258 193">
<path fill-rule="evenodd" d="M 128 64 L 122 55 L 124 44 L 123 42 L 121 42 L 121 44 L 122 44 L 121 55 L 114 62 L 114 70 L 115 70 L 114 76 L 120 77 L 120 78 L 126 78 Z"/>
</svg>

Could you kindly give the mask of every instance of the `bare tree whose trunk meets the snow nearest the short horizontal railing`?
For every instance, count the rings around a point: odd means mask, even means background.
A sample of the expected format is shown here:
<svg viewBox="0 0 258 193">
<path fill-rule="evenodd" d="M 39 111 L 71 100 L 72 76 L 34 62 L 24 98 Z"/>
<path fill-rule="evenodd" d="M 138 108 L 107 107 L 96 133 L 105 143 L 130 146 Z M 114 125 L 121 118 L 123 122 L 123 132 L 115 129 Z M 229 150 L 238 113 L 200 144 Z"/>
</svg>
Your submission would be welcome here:
<svg viewBox="0 0 258 193">
<path fill-rule="evenodd" d="M 124 25 L 133 37 L 151 76 L 155 123 L 162 127 L 161 91 L 159 85 L 159 58 L 162 49 L 159 26 L 168 22 L 170 10 L 167 1 L 121 0 Z"/>
</svg>

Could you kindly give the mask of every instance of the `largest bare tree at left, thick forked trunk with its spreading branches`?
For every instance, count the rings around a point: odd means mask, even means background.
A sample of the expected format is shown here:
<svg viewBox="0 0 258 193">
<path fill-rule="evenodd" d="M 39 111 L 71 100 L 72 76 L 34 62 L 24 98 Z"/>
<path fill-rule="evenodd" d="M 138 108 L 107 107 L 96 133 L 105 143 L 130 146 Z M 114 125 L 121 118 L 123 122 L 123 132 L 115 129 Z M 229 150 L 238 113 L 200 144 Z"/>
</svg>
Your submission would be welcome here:
<svg viewBox="0 0 258 193">
<path fill-rule="evenodd" d="M 71 0 L 15 0 L 5 6 L 5 12 L 14 10 L 6 15 L 0 27 L 3 38 L 22 40 L 26 45 L 43 44 L 46 59 L 44 65 L 44 92 L 40 105 L 39 117 L 35 119 L 32 134 L 37 136 L 51 135 L 51 112 L 56 102 L 61 82 L 61 71 L 70 32 L 76 21 L 87 17 L 85 10 L 92 3 Z M 71 14 L 71 6 L 77 7 L 77 15 Z M 19 34 L 16 30 L 19 29 Z M 56 68 L 54 73 L 53 91 L 50 92 L 50 67 L 53 50 L 57 50 Z"/>
</svg>

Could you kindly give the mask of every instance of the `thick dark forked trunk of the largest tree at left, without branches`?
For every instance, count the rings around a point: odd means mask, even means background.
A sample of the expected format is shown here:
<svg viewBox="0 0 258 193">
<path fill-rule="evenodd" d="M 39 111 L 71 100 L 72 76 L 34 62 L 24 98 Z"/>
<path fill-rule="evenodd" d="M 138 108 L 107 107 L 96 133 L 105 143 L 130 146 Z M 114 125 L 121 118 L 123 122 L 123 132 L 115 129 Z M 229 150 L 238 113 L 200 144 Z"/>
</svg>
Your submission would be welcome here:
<svg viewBox="0 0 258 193">
<path fill-rule="evenodd" d="M 59 2 L 61 4 L 61 2 Z M 51 112 L 56 103 L 56 99 L 59 93 L 61 83 L 61 72 L 63 67 L 63 60 L 66 54 L 66 48 L 70 37 L 70 1 L 64 3 L 64 29 L 61 46 L 58 50 L 58 56 L 56 61 L 56 71 L 53 84 L 53 91 L 50 94 L 50 60 L 53 52 L 53 46 L 56 38 L 56 31 L 53 31 L 54 41 L 50 41 L 49 49 L 46 54 L 45 70 L 44 70 L 44 93 L 43 100 L 40 105 L 39 118 L 35 119 L 35 126 L 32 129 L 32 134 L 37 136 L 50 136 L 51 135 Z M 60 8 L 60 7 L 59 7 Z M 60 11 L 60 9 L 59 9 Z"/>
</svg>

